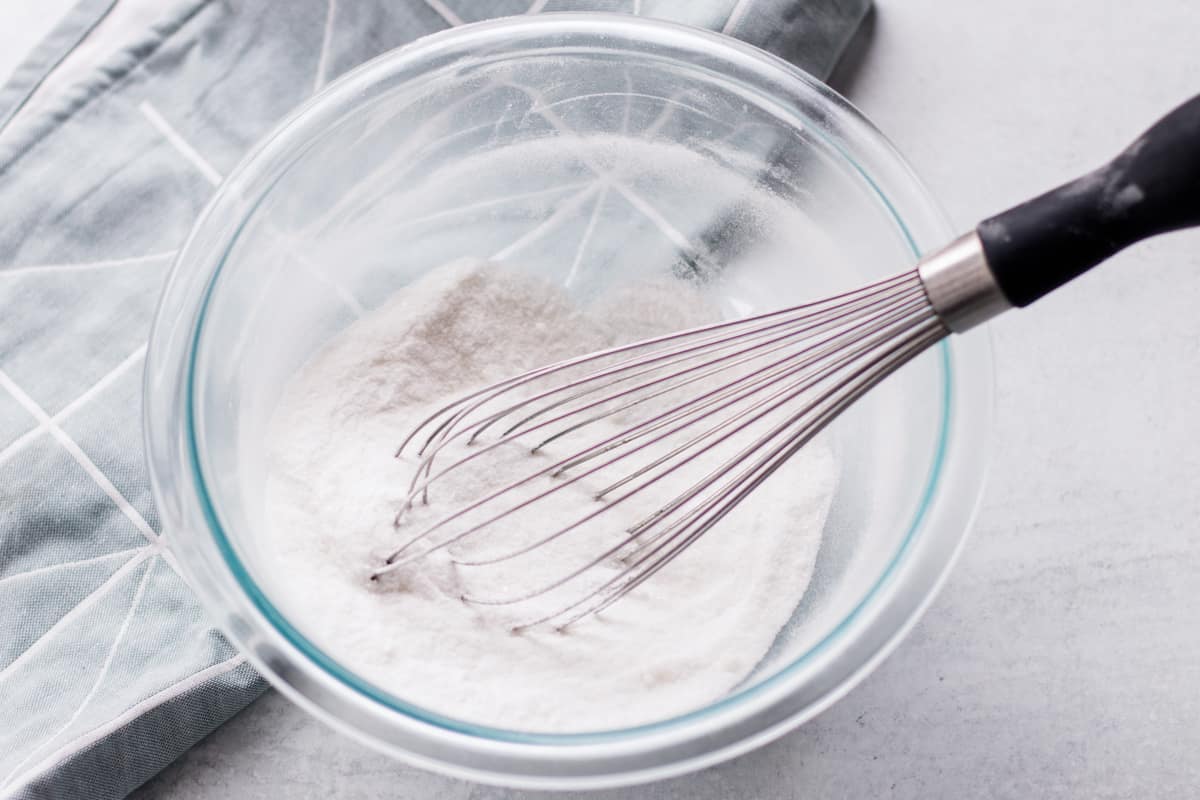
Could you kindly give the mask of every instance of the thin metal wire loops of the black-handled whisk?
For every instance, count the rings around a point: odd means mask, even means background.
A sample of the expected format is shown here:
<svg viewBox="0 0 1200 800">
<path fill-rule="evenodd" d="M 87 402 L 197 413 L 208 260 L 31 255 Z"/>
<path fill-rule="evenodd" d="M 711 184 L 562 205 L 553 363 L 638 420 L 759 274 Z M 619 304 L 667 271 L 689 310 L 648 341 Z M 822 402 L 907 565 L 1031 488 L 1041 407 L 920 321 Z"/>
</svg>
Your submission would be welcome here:
<svg viewBox="0 0 1200 800">
<path fill-rule="evenodd" d="M 734 443 L 739 434 L 755 433 L 754 426 L 767 425 L 764 433 L 736 447 L 732 456 L 720 459 L 700 477 L 689 479 L 685 491 L 655 504 L 654 512 L 624 527 L 614 543 L 605 546 L 586 564 L 548 584 L 510 596 L 463 596 L 464 601 L 480 606 L 520 603 L 577 579 L 584 583 L 590 571 L 616 559 L 619 567 L 614 575 L 599 584 L 593 581 L 575 600 L 515 630 L 547 622 L 565 627 L 608 607 L 662 570 L 846 405 L 946 335 L 947 329 L 913 271 L 818 302 L 568 359 L 474 391 L 422 420 L 397 450 L 397 455 L 403 455 L 426 432 L 416 450 L 418 463 L 407 495 L 396 515 L 397 527 L 418 500 L 430 501 L 431 486 L 499 447 L 523 444 L 536 434 L 530 447 L 536 453 L 600 420 L 619 419 L 647 404 L 652 410 L 617 433 L 569 451 L 548 464 L 540 463 L 516 480 L 434 518 L 390 553 L 372 577 L 438 551 L 449 552 L 454 545 L 505 517 L 566 486 L 628 463 L 638 453 L 653 456 L 648 463 L 626 468 L 617 480 L 610 479 L 595 489 L 593 495 L 602 501 L 600 506 L 533 542 L 485 558 L 451 554 L 456 565 L 467 567 L 518 558 L 610 513 L 668 475 L 700 464 L 702 457 Z M 544 381 L 553 380 L 558 383 L 539 389 Z M 664 399 L 680 390 L 690 391 L 677 396 L 682 398 Z M 532 393 L 522 396 L 524 392 Z M 505 399 L 510 396 L 512 399 Z M 662 401 L 662 408 L 654 405 L 654 401 Z M 496 409 L 497 403 L 503 405 Z M 491 427 L 512 416 L 518 419 L 498 437 L 481 441 Z M 779 416 L 782 421 L 774 422 L 773 417 Z M 683 440 L 676 443 L 673 439 L 679 437 Z M 450 462 L 436 469 L 434 462 L 450 453 L 452 445 L 470 450 L 462 456 L 449 455 Z M 665 452 L 655 455 L 655 446 Z M 503 501 L 516 489 L 544 477 L 556 480 L 530 497 Z M 468 521 L 473 512 L 484 518 Z M 466 527 L 455 529 L 455 523 Z M 443 535 L 434 536 L 439 531 Z"/>
</svg>

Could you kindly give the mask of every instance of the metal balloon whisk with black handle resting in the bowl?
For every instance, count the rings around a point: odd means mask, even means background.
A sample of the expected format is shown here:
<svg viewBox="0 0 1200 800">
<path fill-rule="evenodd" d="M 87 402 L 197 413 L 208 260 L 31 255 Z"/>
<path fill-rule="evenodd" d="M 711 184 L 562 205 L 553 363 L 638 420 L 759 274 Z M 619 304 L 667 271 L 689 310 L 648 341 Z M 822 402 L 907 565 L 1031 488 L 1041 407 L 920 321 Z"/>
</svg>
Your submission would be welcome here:
<svg viewBox="0 0 1200 800">
<path fill-rule="evenodd" d="M 516 626 L 563 628 L 666 567 L 872 386 L 932 344 L 1026 306 L 1141 239 L 1200 224 L 1200 96 L 1112 162 L 977 225 L 905 273 L 833 297 L 580 355 L 438 409 L 400 445 L 416 470 L 396 517 L 464 469 L 527 447 L 530 469 L 414 524 L 373 578 L 476 540 L 514 515 L 534 530 L 470 567 L 512 561 L 582 527 L 594 555 L 540 585 L 463 600 L 511 606 L 566 593 Z M 568 486 L 595 499 L 538 529 Z M 674 488 L 670 488 L 670 487 Z M 642 505 L 629 518 L 614 509 Z M 648 511 L 646 503 L 649 501 Z M 434 503 L 436 505 L 436 503 Z M 558 596 L 558 594 L 556 594 Z"/>
</svg>

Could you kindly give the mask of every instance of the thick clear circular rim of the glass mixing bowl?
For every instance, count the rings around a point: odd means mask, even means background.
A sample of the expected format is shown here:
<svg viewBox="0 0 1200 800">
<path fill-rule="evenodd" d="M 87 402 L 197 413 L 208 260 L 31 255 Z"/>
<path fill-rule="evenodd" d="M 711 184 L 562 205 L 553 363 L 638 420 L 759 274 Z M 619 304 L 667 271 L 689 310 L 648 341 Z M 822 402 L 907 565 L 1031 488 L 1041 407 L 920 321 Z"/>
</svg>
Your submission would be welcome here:
<svg viewBox="0 0 1200 800">
<path fill-rule="evenodd" d="M 955 443 L 952 427 L 970 423 L 967 431 L 973 428 L 990 433 L 991 355 L 986 336 L 967 339 L 974 350 L 970 360 L 956 356 L 956 351 L 966 345 L 947 342 L 938 345 L 943 371 L 943 419 L 924 498 L 900 548 L 856 608 L 821 642 L 775 674 L 701 709 L 608 732 L 541 734 L 506 730 L 454 720 L 395 698 L 341 667 L 316 645 L 306 645 L 307 639 L 275 608 L 240 563 L 209 497 L 199 456 L 193 425 L 196 354 L 224 254 L 236 240 L 240 228 L 240 223 L 221 225 L 218 218 L 224 215 L 245 219 L 254 204 L 247 206 L 244 198 L 253 197 L 256 190 L 265 194 L 262 182 L 269 178 L 271 158 L 295 157 L 298 145 L 305 142 L 304 134 L 319 132 L 320 122 L 330 116 L 331 109 L 350 110 L 367 102 L 361 100 L 364 92 L 382 85 L 389 76 L 394 77 L 422 60 L 444 58 L 448 53 L 461 58 L 480 42 L 521 36 L 536 40 L 548 35 L 606 38 L 608 47 L 668 41 L 673 47 L 703 52 L 706 58 L 736 62 L 757 71 L 756 74 L 770 73 L 776 82 L 790 83 L 794 91 L 822 104 L 839 125 L 863 137 L 875 150 L 875 157 L 888 163 L 894 173 L 892 178 L 907 181 L 911 199 L 924 204 L 934 227 L 940 224 L 948 239 L 948 225 L 929 193 L 862 114 L 815 78 L 744 42 L 674 23 L 624 14 L 545 14 L 463 25 L 391 50 L 332 82 L 264 137 L 215 193 L 175 257 L 154 323 L 144 385 L 145 450 L 164 530 L 188 531 L 179 541 L 174 536 L 167 537 L 172 548 L 178 548 L 185 578 L 197 589 L 226 636 L 260 673 L 293 699 L 371 745 L 443 772 L 530 788 L 604 787 L 698 769 L 769 741 L 841 697 L 895 646 L 936 594 L 961 548 L 982 493 L 986 446 L 976 441 L 964 452 L 961 437 Z M 836 143 L 829 140 L 829 144 L 841 150 Z M 916 258 L 918 245 L 889 197 L 864 167 L 845 151 L 841 155 L 890 209 L 896 224 L 908 235 Z M 215 267 L 202 276 L 202 283 L 196 279 L 197 273 L 203 272 L 196 269 L 196 261 L 211 263 L 206 252 L 215 243 L 222 255 Z M 188 272 L 192 279 L 182 279 L 181 276 Z M 971 365 L 976 383 L 965 393 L 966 404 L 959 402 L 964 392 L 954 391 L 955 381 L 964 379 L 960 362 Z M 176 403 L 180 402 L 184 408 L 181 420 L 176 419 Z M 170 413 L 173 404 L 176 404 L 175 411 Z M 968 457 L 970 461 L 962 463 Z M 956 471 L 948 475 L 952 461 L 955 461 Z M 185 480 L 180 480 L 180 473 Z M 940 492 L 944 500 L 949 482 L 940 479 L 948 477 L 960 485 L 954 493 L 956 501 L 953 507 L 946 503 L 942 504 L 946 507 L 937 507 L 935 500 Z M 949 548 L 941 548 L 938 563 L 925 565 L 919 582 L 923 594 L 908 597 L 904 613 L 900 616 L 892 614 L 884 628 L 880 630 L 880 618 L 888 616 L 883 612 L 904 594 L 906 578 L 912 582 L 912 546 L 919 543 L 919 529 L 937 515 L 953 521 L 947 521 L 955 528 L 953 541 L 949 541 Z M 191 530 L 197 519 L 203 519 L 205 530 Z M 193 533 L 199 535 L 191 535 Z M 205 535 L 210 537 L 206 545 Z M 221 575 L 222 569 L 224 575 Z M 229 589 L 236 589 L 241 595 L 230 599 Z M 854 650 L 847 646 L 854 644 L 846 642 L 848 632 L 854 630 L 854 625 L 863 630 L 864 624 L 871 622 L 877 628 L 871 646 L 859 652 L 857 658 L 848 658 L 846 652 L 839 650 Z M 833 656 L 834 663 L 842 662 L 842 668 L 834 670 L 839 674 L 826 675 L 828 687 L 799 708 L 784 708 L 781 702 L 788 696 L 794 700 L 800 673 L 805 668 L 811 669 L 821 655 Z M 847 658 L 853 663 L 845 663 Z M 337 685 L 330 684 L 330 680 Z M 654 753 L 661 757 L 654 757 Z"/>
</svg>

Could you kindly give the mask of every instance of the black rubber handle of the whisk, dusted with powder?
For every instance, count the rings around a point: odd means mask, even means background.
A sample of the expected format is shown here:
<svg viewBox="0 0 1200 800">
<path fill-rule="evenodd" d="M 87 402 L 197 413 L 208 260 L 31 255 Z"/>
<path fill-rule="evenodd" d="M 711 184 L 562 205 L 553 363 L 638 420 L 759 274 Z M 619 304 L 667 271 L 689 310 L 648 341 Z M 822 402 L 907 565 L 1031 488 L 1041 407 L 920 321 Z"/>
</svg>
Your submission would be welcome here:
<svg viewBox="0 0 1200 800">
<path fill-rule="evenodd" d="M 1123 247 L 1200 225 L 1200 96 L 1093 173 L 976 228 L 1014 306 L 1082 275 Z"/>
</svg>

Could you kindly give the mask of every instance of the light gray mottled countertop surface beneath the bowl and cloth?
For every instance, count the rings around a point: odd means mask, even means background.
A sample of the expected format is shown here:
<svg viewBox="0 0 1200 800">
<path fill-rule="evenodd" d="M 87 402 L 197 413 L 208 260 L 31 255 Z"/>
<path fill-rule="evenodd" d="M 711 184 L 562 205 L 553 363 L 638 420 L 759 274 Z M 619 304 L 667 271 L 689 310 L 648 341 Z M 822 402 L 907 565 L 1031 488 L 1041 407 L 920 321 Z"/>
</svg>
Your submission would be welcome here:
<svg viewBox="0 0 1200 800">
<path fill-rule="evenodd" d="M 1200 91 L 1195 0 L 876 0 L 840 88 L 962 228 Z M 978 524 L 877 672 L 784 739 L 595 798 L 1146 798 L 1200 790 L 1200 234 L 992 325 Z M 277 694 L 136 795 L 548 798 L 398 765 Z"/>
</svg>

